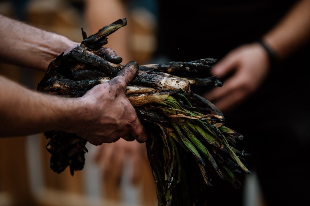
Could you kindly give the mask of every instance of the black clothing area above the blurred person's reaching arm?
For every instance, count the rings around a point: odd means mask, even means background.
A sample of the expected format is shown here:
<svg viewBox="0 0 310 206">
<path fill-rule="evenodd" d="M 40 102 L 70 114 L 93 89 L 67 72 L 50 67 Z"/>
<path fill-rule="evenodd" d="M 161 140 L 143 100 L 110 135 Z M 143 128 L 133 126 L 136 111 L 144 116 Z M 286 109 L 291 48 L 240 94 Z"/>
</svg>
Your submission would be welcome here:
<svg viewBox="0 0 310 206">
<path fill-rule="evenodd" d="M 258 40 L 294 1 L 159 1 L 159 52 L 174 61 L 222 58 Z"/>
</svg>

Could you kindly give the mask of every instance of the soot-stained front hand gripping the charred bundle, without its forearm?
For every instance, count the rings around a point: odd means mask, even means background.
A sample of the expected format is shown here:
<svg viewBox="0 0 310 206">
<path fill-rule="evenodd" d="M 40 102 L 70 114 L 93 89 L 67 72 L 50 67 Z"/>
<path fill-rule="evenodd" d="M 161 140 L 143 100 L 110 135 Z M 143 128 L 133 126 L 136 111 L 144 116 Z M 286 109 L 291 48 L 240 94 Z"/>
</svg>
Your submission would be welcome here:
<svg viewBox="0 0 310 206">
<path fill-rule="evenodd" d="M 117 77 L 96 85 L 83 97 L 77 98 L 80 109 L 72 118 L 76 125 L 67 131 L 87 139 L 91 144 L 111 143 L 123 138 L 127 141 L 145 142 L 147 136 L 134 107 L 126 98 L 126 85 L 135 77 L 138 64 L 126 64 Z"/>
</svg>

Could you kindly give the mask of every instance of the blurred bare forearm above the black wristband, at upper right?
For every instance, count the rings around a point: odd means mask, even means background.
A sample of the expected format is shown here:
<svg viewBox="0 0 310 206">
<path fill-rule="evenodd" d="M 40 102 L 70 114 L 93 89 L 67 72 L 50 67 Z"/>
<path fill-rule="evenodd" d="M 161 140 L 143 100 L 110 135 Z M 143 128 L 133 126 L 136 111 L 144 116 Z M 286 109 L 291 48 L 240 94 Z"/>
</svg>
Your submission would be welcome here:
<svg viewBox="0 0 310 206">
<path fill-rule="evenodd" d="M 310 0 L 299 1 L 263 40 L 284 59 L 309 41 Z"/>
</svg>

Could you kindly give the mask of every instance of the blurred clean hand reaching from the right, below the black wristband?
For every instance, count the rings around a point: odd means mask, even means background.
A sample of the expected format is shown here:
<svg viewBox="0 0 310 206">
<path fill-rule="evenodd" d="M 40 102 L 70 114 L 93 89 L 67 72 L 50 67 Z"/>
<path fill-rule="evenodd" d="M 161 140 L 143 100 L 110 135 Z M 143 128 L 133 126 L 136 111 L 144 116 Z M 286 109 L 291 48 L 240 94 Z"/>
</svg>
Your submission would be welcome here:
<svg viewBox="0 0 310 206">
<path fill-rule="evenodd" d="M 212 75 L 223 78 L 232 73 L 232 76 L 222 87 L 205 94 L 204 98 L 213 102 L 221 111 L 228 111 L 261 85 L 268 70 L 268 55 L 259 43 L 240 46 L 212 68 Z"/>
</svg>

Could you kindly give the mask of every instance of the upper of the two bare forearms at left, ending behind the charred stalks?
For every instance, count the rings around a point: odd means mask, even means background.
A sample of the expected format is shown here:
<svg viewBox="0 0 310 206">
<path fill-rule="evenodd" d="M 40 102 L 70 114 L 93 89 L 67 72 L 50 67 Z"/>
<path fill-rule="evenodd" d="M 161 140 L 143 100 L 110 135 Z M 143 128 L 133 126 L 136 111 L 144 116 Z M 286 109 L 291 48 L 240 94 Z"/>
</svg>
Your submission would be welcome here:
<svg viewBox="0 0 310 206">
<path fill-rule="evenodd" d="M 0 15 L 0 57 L 3 61 L 45 71 L 51 60 L 77 43 Z"/>
</svg>

